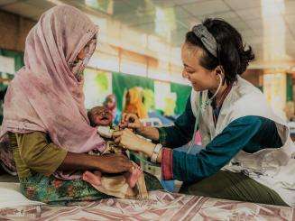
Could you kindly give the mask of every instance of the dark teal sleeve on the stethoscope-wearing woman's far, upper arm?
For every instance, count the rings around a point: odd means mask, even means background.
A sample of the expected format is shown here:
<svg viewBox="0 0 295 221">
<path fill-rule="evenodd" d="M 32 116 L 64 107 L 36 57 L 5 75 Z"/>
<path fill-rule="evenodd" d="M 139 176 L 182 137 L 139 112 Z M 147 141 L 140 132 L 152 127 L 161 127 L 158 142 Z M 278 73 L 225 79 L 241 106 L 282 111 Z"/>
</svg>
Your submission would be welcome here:
<svg viewBox="0 0 295 221">
<path fill-rule="evenodd" d="M 196 118 L 192 113 L 189 97 L 184 113 L 177 118 L 174 125 L 158 128 L 160 143 L 171 148 L 189 143 L 194 134 L 195 122 Z"/>
</svg>

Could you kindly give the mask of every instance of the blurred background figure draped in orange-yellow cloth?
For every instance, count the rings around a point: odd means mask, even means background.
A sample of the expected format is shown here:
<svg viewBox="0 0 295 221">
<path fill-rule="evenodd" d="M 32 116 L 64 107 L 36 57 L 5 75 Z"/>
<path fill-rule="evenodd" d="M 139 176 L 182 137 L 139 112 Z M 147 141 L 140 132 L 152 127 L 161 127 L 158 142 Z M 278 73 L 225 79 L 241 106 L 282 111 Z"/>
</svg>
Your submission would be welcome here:
<svg viewBox="0 0 295 221">
<path fill-rule="evenodd" d="M 140 119 L 147 118 L 147 111 L 143 105 L 143 96 L 140 87 L 133 87 L 126 94 L 124 113 L 137 115 Z"/>
</svg>

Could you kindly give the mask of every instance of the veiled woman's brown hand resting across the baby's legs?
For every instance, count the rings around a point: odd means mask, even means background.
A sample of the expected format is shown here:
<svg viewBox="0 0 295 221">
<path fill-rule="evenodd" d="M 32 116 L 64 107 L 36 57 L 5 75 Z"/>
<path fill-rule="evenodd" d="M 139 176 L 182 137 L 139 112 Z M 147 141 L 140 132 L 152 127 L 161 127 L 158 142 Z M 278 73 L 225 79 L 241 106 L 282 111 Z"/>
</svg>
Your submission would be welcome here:
<svg viewBox="0 0 295 221">
<path fill-rule="evenodd" d="M 106 173 L 132 171 L 134 164 L 123 154 L 106 154 L 99 156 L 98 170 Z"/>
</svg>

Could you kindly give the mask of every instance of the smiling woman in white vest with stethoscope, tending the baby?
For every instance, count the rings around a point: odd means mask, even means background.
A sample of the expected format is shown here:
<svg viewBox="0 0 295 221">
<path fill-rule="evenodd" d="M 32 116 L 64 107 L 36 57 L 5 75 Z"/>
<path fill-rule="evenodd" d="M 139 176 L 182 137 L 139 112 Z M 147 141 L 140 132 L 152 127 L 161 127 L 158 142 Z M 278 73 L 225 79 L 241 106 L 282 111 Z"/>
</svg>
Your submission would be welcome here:
<svg viewBox="0 0 295 221">
<path fill-rule="evenodd" d="M 207 19 L 187 33 L 181 52 L 182 75 L 193 87 L 185 112 L 163 128 L 143 127 L 136 115 L 124 115 L 123 125 L 158 144 L 128 129 L 115 134 L 116 142 L 161 162 L 162 179 L 184 182 L 180 192 L 294 207 L 289 128 L 263 93 L 239 76 L 254 59 L 251 48 L 244 49 L 229 23 Z M 204 145 L 200 152 L 172 150 L 189 143 L 196 131 Z"/>
</svg>

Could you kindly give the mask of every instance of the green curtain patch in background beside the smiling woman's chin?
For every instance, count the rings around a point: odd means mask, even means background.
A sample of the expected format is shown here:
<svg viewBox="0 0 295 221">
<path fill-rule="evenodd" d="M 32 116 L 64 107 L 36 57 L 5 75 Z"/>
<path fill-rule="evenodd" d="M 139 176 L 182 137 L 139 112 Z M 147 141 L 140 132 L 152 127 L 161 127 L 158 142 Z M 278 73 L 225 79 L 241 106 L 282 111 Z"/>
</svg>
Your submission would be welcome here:
<svg viewBox="0 0 295 221">
<path fill-rule="evenodd" d="M 186 103 L 191 92 L 191 87 L 177 83 L 171 83 L 171 93 L 173 92 L 177 95 L 174 113 L 176 115 L 180 115 L 185 110 Z"/>
</svg>

